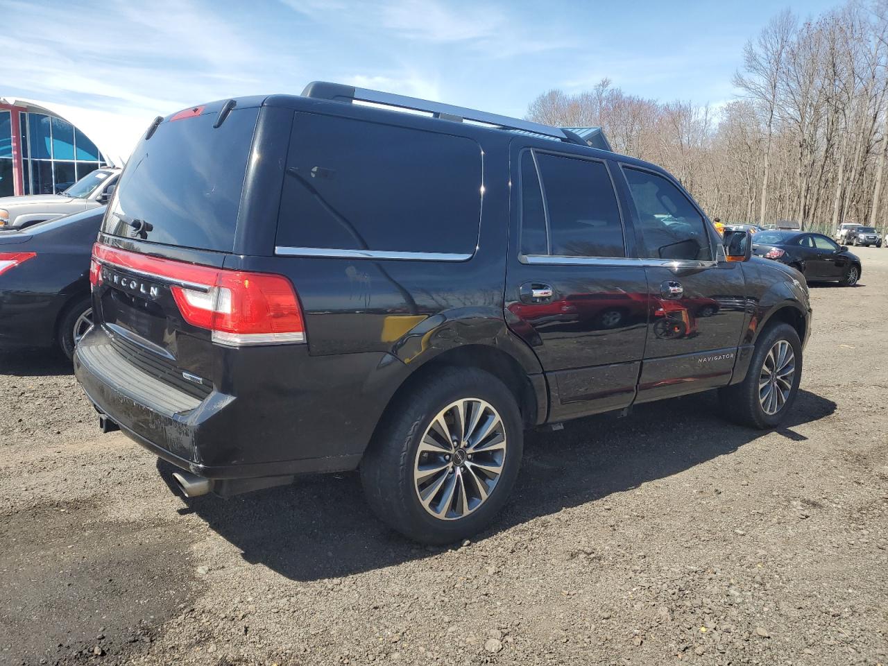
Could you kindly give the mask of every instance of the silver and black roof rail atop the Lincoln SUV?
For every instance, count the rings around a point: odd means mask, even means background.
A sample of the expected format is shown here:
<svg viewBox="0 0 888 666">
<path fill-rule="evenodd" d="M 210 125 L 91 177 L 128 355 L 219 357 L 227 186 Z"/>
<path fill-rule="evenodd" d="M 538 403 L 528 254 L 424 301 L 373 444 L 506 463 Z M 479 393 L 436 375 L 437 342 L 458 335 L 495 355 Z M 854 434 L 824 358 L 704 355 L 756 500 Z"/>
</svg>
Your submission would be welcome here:
<svg viewBox="0 0 888 666">
<path fill-rule="evenodd" d="M 511 118 L 508 115 L 490 114 L 486 111 L 477 111 L 473 108 L 454 107 L 450 104 L 432 102 L 428 99 L 417 99 L 415 97 L 407 97 L 406 95 L 395 95 L 392 92 L 355 88 L 354 86 L 345 85 L 343 83 L 313 81 L 305 86 L 305 90 L 302 91 L 302 96 L 347 102 L 358 100 L 362 102 L 371 102 L 373 104 L 382 104 L 387 107 L 407 108 L 414 111 L 424 111 L 432 114 L 432 117 L 441 118 L 443 120 L 452 120 L 457 123 L 462 123 L 464 120 L 470 120 L 475 123 L 485 123 L 505 130 L 526 131 L 551 139 L 560 139 L 562 141 L 567 141 L 568 143 L 579 144 L 580 146 L 589 145 L 586 141 L 578 137 L 575 132 L 564 131 L 559 127 L 551 127 L 550 125 L 543 125 L 542 123 L 533 123 L 529 120 L 519 120 L 518 118 Z"/>
</svg>

